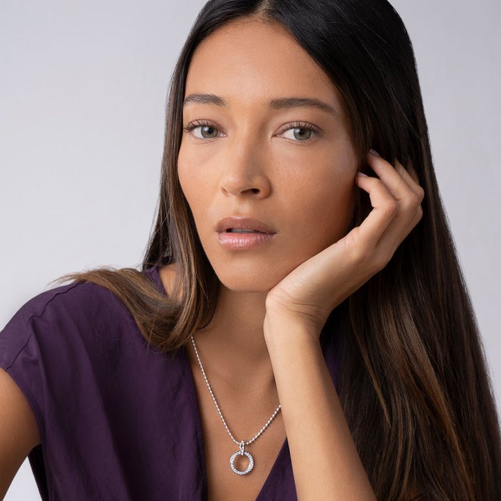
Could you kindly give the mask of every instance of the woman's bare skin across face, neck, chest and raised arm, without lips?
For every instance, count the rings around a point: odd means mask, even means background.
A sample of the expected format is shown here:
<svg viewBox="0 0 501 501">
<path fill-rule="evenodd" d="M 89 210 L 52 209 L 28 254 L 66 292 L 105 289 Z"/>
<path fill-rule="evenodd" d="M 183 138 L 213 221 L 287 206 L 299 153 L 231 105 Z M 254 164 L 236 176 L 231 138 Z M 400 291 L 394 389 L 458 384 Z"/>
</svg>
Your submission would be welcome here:
<svg viewBox="0 0 501 501">
<path fill-rule="evenodd" d="M 284 98 L 310 105 L 276 109 Z M 237 446 L 189 348 L 209 498 L 254 500 L 287 436 L 299 499 L 374 499 L 319 333 L 420 220 L 422 189 L 374 152 L 367 163 L 377 177 L 357 173 L 335 86 L 276 24 L 238 20 L 202 42 L 189 68 L 183 122 L 179 179 L 221 280 L 214 319 L 196 334 L 200 356 L 238 440 L 253 437 L 282 406 L 248 446 L 255 469 L 237 477 L 228 466 Z M 301 133 L 310 125 L 313 134 Z M 345 236 L 356 186 L 374 208 Z M 225 248 L 216 231 L 225 216 L 258 219 L 273 237 L 249 250 Z"/>
</svg>

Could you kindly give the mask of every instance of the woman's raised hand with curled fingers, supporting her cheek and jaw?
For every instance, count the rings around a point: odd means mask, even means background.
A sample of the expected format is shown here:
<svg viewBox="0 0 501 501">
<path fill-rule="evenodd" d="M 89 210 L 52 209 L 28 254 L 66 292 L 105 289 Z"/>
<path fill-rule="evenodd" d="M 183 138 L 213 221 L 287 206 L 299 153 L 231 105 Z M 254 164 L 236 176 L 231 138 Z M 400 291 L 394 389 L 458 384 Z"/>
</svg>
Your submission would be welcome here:
<svg viewBox="0 0 501 501">
<path fill-rule="evenodd" d="M 367 163 L 379 177 L 358 173 L 356 184 L 369 193 L 372 211 L 335 244 L 310 257 L 273 287 L 267 317 L 297 319 L 318 334 L 344 299 L 383 269 L 422 217 L 424 191 L 412 170 L 395 168 L 376 152 Z"/>
</svg>

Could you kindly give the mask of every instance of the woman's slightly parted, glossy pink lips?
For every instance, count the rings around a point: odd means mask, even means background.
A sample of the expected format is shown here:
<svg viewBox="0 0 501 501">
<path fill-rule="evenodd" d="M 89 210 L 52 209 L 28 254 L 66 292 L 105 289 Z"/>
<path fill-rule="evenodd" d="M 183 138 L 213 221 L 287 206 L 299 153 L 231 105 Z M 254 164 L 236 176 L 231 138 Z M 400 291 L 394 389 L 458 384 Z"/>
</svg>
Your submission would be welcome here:
<svg viewBox="0 0 501 501">
<path fill-rule="evenodd" d="M 248 230 L 249 233 L 228 230 Z M 276 231 L 257 219 L 245 216 L 226 216 L 216 224 L 218 241 L 228 250 L 251 250 L 273 239 Z"/>
</svg>

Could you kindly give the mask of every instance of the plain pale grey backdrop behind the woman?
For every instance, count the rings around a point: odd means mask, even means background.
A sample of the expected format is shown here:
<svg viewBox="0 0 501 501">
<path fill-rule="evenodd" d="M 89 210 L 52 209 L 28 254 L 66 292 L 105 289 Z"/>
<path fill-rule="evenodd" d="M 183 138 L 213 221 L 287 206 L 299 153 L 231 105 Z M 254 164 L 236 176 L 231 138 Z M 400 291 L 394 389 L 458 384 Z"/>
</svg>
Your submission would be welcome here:
<svg viewBox="0 0 501 501">
<path fill-rule="evenodd" d="M 64 273 L 141 262 L 166 89 L 202 3 L 0 0 L 0 327 Z M 501 3 L 393 5 L 500 402 Z M 26 461 L 6 500 L 35 499 Z"/>
</svg>

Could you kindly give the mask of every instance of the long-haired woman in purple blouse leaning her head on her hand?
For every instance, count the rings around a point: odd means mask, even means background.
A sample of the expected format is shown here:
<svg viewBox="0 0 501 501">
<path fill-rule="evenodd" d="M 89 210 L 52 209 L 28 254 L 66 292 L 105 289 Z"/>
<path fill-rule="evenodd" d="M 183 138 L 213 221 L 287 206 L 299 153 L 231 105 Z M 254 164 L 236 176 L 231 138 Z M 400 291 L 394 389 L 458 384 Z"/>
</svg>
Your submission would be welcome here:
<svg viewBox="0 0 501 501">
<path fill-rule="evenodd" d="M 32 451 L 49 499 L 500 497 L 385 1 L 207 3 L 175 70 L 144 271 L 74 278 L 0 337 L 4 491 Z"/>
</svg>

